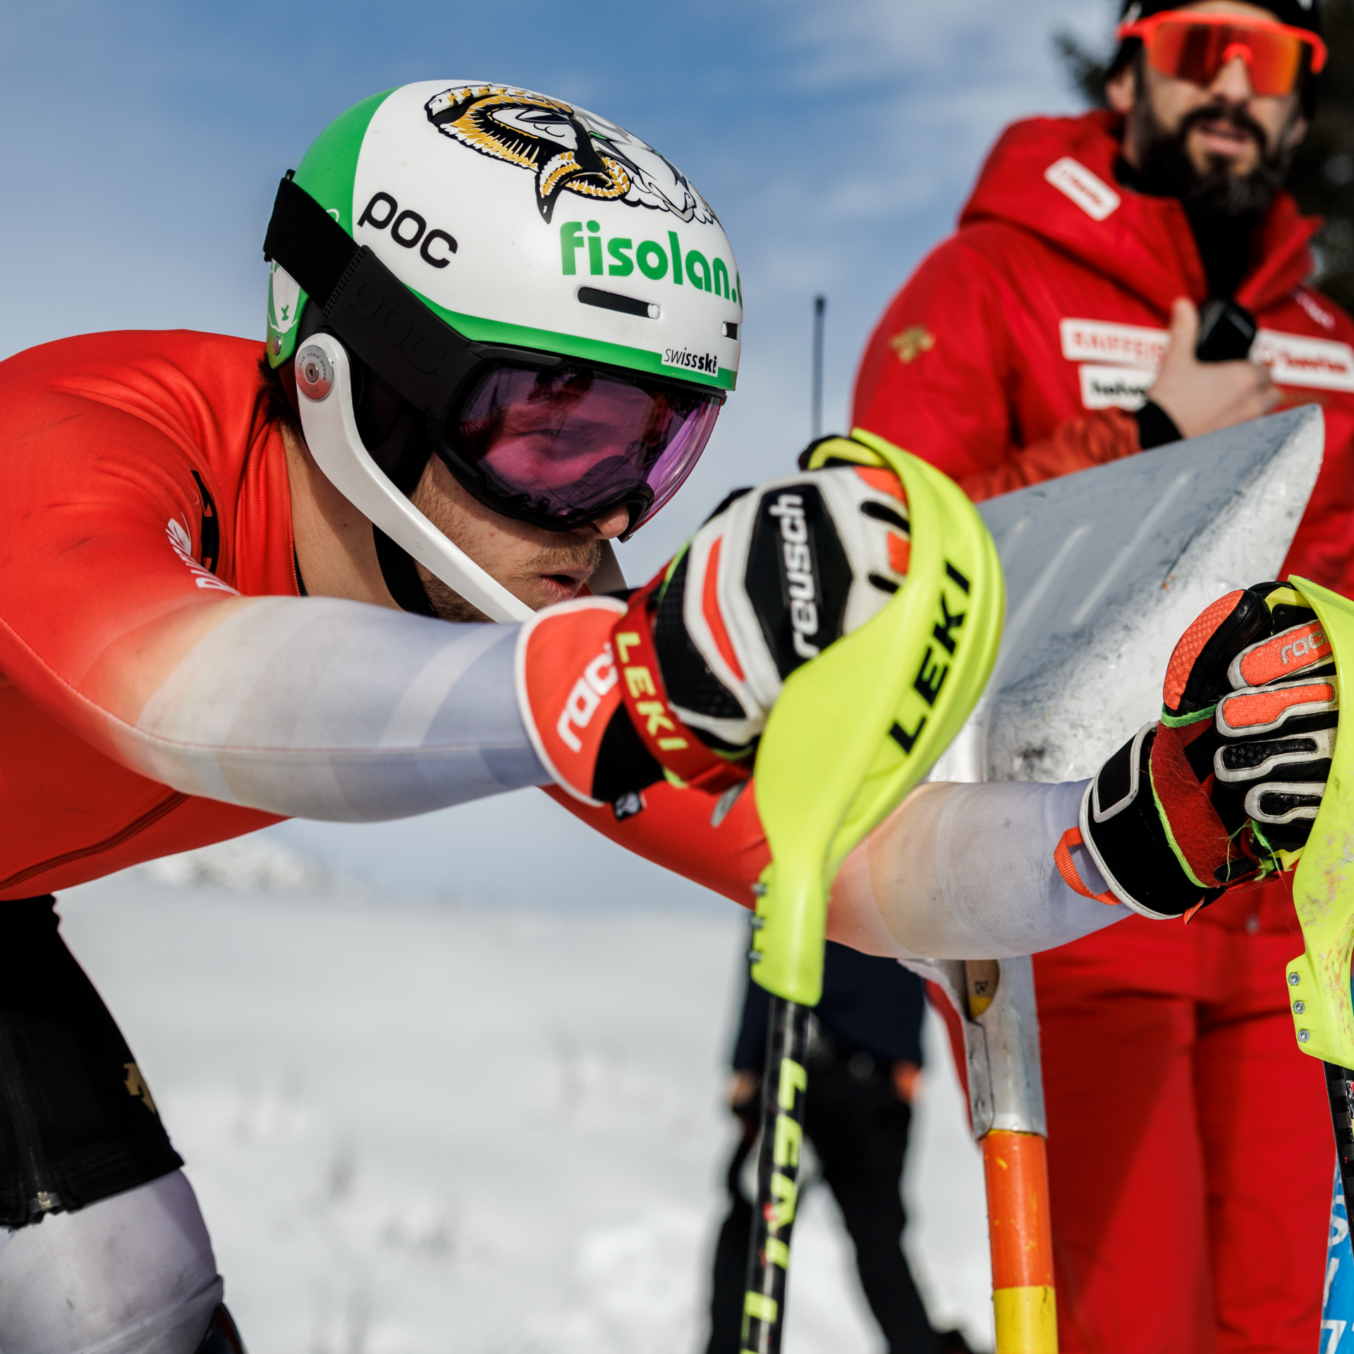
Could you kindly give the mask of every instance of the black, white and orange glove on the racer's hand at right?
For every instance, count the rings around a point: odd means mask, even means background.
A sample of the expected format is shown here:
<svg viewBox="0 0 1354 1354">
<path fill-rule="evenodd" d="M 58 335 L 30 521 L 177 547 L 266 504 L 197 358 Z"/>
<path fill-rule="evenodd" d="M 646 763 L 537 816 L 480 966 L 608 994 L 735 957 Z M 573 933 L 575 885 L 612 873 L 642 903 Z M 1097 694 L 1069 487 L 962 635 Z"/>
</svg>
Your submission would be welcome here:
<svg viewBox="0 0 1354 1354">
<path fill-rule="evenodd" d="M 1258 584 L 1213 603 L 1171 654 L 1160 722 L 1087 787 L 1079 835 L 1110 886 L 1099 896 L 1181 917 L 1292 868 L 1336 720 L 1331 646 L 1297 592 Z M 1072 883 L 1066 845 L 1059 869 Z"/>
</svg>

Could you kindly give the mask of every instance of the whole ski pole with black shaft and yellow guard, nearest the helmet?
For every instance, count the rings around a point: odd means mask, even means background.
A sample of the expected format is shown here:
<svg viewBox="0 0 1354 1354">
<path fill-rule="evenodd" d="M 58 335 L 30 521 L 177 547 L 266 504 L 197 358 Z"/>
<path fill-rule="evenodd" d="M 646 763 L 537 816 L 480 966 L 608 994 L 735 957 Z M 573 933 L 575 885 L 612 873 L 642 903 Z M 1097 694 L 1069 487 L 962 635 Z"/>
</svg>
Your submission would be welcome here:
<svg viewBox="0 0 1354 1354">
<path fill-rule="evenodd" d="M 799 1197 L 808 1010 L 822 995 L 827 894 L 842 860 L 925 776 L 997 655 L 1002 573 L 974 505 L 940 471 L 869 433 L 852 459 L 895 470 L 913 525 L 907 584 L 871 621 L 791 674 L 757 753 L 772 861 L 753 979 L 772 994 L 742 1347 L 780 1349 Z"/>
</svg>

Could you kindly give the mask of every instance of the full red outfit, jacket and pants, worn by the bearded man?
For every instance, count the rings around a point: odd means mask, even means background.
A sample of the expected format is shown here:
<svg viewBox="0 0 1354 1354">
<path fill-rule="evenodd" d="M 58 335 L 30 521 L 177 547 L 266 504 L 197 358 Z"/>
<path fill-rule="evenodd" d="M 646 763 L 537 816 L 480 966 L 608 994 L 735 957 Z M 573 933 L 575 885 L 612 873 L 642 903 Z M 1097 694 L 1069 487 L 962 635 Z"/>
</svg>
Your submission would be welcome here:
<svg viewBox="0 0 1354 1354">
<path fill-rule="evenodd" d="M 853 422 L 975 498 L 1128 456 L 1178 297 L 1181 204 L 1117 183 L 1109 114 L 1009 127 L 959 230 L 892 299 Z M 1304 286 L 1316 222 L 1280 194 L 1236 299 L 1326 460 L 1284 574 L 1354 589 L 1354 322 Z M 1322 1068 L 1293 1044 L 1284 881 L 1187 927 L 1132 918 L 1034 957 L 1063 1354 L 1315 1350 L 1331 1190 Z"/>
</svg>

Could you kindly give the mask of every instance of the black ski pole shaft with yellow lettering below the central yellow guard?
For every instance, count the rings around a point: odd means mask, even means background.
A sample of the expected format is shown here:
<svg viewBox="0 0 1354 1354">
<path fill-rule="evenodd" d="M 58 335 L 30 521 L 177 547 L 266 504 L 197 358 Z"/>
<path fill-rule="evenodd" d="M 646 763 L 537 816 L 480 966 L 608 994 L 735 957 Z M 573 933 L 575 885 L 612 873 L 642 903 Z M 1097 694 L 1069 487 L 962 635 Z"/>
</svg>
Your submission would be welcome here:
<svg viewBox="0 0 1354 1354">
<path fill-rule="evenodd" d="M 770 999 L 766 1067 L 762 1072 L 761 1148 L 757 1155 L 757 1205 L 747 1246 L 742 1349 L 779 1354 L 785 1324 L 789 1233 L 799 1202 L 799 1148 L 804 1136 L 808 1087 L 810 1007 Z"/>
</svg>

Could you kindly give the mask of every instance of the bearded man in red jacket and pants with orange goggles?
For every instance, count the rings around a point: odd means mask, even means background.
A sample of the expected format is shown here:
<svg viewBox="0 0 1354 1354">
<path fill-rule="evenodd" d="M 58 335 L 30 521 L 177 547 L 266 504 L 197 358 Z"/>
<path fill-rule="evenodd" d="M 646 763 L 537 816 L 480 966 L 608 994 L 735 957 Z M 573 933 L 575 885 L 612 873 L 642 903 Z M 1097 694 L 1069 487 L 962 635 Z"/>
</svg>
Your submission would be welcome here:
<svg viewBox="0 0 1354 1354">
<path fill-rule="evenodd" d="M 1354 593 L 1354 322 L 1304 284 L 1317 222 L 1281 188 L 1319 34 L 1319 0 L 1129 5 L 1112 111 L 1006 130 L 875 330 L 856 425 L 983 498 L 1320 403 L 1284 571 Z M 1209 298 L 1258 320 L 1251 362 L 1194 360 Z M 1332 1152 L 1285 1003 L 1301 948 L 1274 884 L 1036 957 L 1064 1354 L 1317 1349 Z"/>
</svg>

